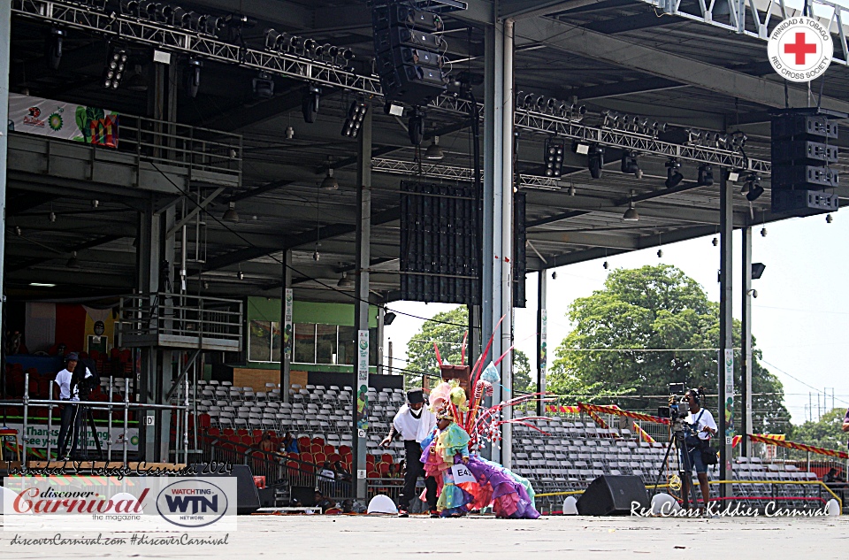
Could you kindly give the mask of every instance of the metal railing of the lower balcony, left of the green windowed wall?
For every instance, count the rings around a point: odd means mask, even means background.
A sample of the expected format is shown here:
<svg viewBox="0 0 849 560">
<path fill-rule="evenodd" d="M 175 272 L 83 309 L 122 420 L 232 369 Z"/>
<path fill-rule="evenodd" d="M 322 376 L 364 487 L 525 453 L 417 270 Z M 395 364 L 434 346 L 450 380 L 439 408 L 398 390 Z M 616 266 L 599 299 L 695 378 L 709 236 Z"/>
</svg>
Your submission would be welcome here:
<svg viewBox="0 0 849 560">
<path fill-rule="evenodd" d="M 242 340 L 239 300 L 197 295 L 126 295 L 121 298 L 119 344 L 238 351 Z"/>
</svg>

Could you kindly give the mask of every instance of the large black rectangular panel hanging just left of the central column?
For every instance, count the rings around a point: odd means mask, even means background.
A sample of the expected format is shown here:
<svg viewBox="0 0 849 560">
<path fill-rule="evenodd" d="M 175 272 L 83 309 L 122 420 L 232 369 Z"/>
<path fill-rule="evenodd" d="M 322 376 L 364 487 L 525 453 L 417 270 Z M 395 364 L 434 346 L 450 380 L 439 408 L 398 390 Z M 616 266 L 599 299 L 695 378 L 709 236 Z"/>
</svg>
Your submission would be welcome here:
<svg viewBox="0 0 849 560">
<path fill-rule="evenodd" d="M 402 182 L 402 299 L 479 304 L 479 216 L 470 183 Z"/>
</svg>

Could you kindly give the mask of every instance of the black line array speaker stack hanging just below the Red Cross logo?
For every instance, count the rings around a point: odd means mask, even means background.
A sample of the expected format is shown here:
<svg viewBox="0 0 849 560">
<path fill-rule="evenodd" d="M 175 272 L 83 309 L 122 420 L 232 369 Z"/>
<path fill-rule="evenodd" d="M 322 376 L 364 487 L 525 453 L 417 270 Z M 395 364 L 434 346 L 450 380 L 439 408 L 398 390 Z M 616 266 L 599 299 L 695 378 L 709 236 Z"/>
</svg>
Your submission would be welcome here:
<svg viewBox="0 0 849 560">
<path fill-rule="evenodd" d="M 772 211 L 811 216 L 838 210 L 838 119 L 817 107 L 772 111 Z M 830 192 L 829 192 L 830 191 Z"/>
</svg>

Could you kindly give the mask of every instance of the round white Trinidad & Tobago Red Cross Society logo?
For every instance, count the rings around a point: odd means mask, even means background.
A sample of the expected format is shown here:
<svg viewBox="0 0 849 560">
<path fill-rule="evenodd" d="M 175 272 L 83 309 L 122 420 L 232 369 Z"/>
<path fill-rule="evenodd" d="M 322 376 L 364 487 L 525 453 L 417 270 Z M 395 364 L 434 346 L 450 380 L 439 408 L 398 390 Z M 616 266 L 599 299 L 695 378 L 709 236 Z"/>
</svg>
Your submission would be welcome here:
<svg viewBox="0 0 849 560">
<path fill-rule="evenodd" d="M 812 81 L 822 76 L 834 55 L 828 27 L 813 18 L 784 19 L 769 35 L 769 64 L 789 81 Z"/>
</svg>

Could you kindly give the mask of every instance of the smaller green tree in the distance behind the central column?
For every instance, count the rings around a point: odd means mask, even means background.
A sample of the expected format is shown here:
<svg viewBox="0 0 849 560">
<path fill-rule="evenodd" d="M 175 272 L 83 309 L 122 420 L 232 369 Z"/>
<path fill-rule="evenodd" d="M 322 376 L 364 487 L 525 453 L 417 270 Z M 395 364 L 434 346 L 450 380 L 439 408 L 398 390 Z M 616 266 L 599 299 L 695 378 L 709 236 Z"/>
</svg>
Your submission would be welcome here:
<svg viewBox="0 0 849 560">
<path fill-rule="evenodd" d="M 433 320 L 424 322 L 422 328 L 407 342 L 408 379 L 416 379 L 416 373 L 424 372 L 433 378 L 440 376 L 440 367 L 436 362 L 433 342 L 440 349 L 442 361 L 447 364 L 460 364 L 463 335 L 469 330 L 469 309 L 461 305 L 451 311 L 433 316 Z M 490 359 L 492 356 L 490 356 Z M 497 356 L 496 356 L 497 358 Z M 467 341 L 466 364 L 469 364 Z M 472 364 L 474 365 L 474 364 Z M 513 387 L 516 391 L 526 391 L 532 385 L 531 366 L 528 357 L 521 350 L 513 350 Z"/>
</svg>

